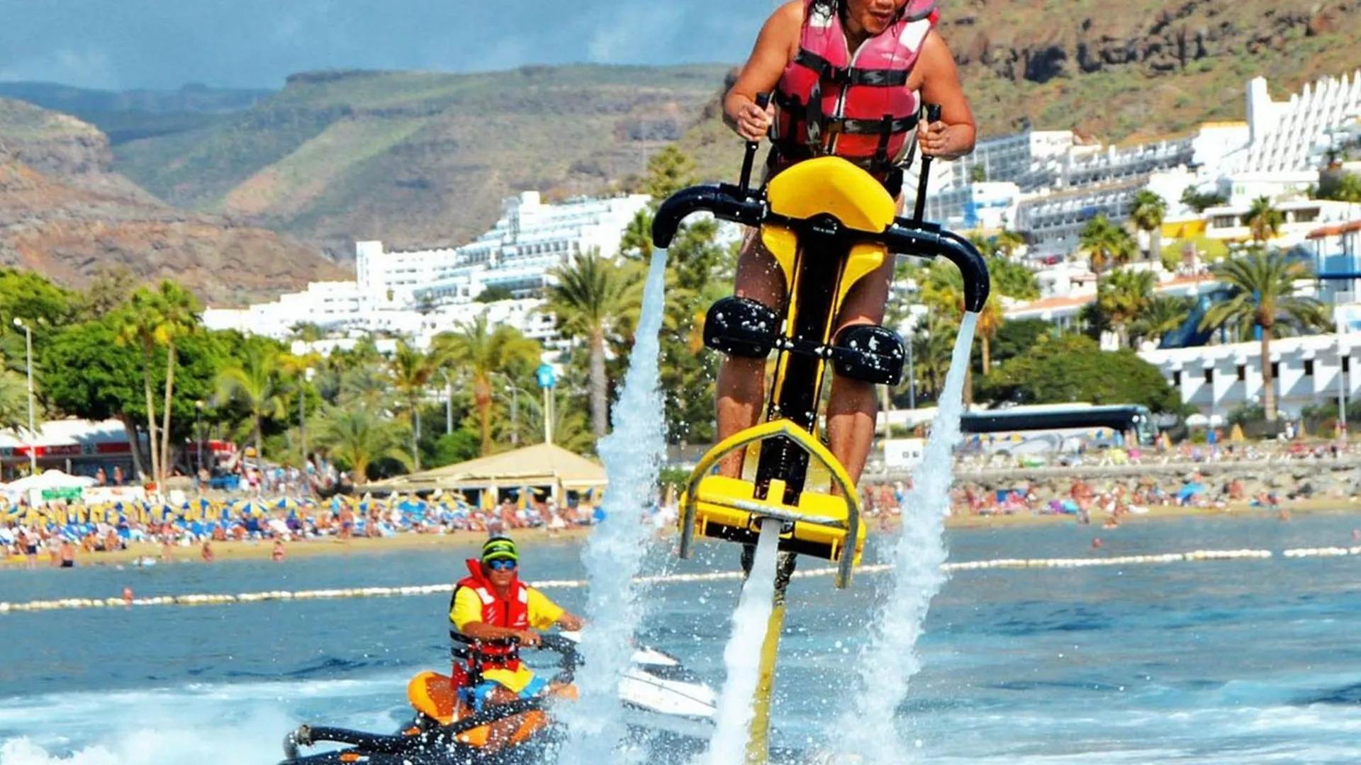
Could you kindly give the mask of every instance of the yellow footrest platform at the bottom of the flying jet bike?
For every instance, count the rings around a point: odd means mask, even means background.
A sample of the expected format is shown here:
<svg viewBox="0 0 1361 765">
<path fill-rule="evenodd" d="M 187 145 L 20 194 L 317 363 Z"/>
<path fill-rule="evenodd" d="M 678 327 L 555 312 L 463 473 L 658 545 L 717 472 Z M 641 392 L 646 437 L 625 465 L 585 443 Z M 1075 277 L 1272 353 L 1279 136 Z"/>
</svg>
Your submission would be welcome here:
<svg viewBox="0 0 1361 765">
<path fill-rule="evenodd" d="M 694 494 L 694 532 L 755 544 L 761 534 L 761 519 L 776 519 L 783 523 L 781 550 L 826 561 L 841 559 L 851 516 L 845 498 L 803 491 L 799 505 L 789 506 L 778 501 L 784 494 L 783 486 L 772 486 L 766 500 L 757 500 L 754 494 L 755 487 L 747 481 L 723 475 L 704 476 Z M 682 513 L 680 517 L 685 519 L 686 515 L 689 513 Z M 852 565 L 860 564 L 863 550 L 864 525 L 859 525 Z"/>
</svg>

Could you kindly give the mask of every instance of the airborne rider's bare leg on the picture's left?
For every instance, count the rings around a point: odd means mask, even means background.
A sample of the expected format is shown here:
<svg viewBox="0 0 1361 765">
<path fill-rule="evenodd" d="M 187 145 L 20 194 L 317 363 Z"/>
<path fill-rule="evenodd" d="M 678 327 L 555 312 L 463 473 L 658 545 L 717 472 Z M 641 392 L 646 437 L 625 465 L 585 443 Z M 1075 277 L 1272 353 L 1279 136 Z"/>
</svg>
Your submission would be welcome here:
<svg viewBox="0 0 1361 765">
<path fill-rule="evenodd" d="M 780 310 L 784 290 L 780 265 L 761 245 L 759 238 L 754 233 L 749 234 L 738 257 L 734 294 Z M 765 363 L 764 358 L 723 357 L 716 382 L 720 441 L 759 421 L 765 402 Z M 746 449 L 728 455 L 719 463 L 719 474 L 740 478 L 744 459 Z"/>
</svg>

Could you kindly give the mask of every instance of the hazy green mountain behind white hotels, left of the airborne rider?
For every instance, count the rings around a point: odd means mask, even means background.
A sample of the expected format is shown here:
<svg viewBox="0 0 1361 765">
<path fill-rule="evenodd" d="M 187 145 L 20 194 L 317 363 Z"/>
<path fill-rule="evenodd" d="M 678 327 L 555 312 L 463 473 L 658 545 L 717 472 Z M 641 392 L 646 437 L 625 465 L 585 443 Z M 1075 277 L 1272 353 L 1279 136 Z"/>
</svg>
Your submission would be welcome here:
<svg viewBox="0 0 1361 765">
<path fill-rule="evenodd" d="M 461 244 L 505 196 L 599 193 L 680 137 L 723 67 L 313 72 L 210 127 L 116 147 L 174 204 L 323 242 Z"/>
</svg>

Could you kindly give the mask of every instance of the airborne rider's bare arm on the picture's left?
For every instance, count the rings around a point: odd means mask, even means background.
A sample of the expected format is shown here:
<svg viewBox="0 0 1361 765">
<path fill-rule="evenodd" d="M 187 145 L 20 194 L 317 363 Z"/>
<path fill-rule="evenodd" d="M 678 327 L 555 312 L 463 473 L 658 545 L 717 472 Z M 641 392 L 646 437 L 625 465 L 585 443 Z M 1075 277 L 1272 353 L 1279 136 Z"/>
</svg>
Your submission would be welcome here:
<svg viewBox="0 0 1361 765">
<path fill-rule="evenodd" d="M 723 99 L 723 123 L 739 136 L 747 140 L 761 140 L 765 136 L 774 108 L 757 106 L 757 94 L 770 93 L 778 84 L 780 76 L 789 65 L 789 53 L 798 44 L 802 29 L 803 0 L 780 5 L 761 27 L 751 57 Z"/>
</svg>

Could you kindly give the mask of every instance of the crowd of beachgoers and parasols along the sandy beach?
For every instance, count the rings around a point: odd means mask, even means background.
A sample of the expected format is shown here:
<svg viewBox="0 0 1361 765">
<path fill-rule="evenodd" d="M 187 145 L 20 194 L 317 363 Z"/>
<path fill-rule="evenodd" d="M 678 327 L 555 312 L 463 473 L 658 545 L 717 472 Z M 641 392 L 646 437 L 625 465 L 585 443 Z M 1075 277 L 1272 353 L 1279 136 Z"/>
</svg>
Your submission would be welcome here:
<svg viewBox="0 0 1361 765">
<path fill-rule="evenodd" d="M 1101 468 L 1121 464 L 1184 466 L 1184 474 L 1134 478 L 1064 478 L 1060 481 L 1017 481 L 1014 485 L 984 489 L 965 479 L 951 491 L 950 515 L 985 516 L 1071 516 L 1078 523 L 1096 519 L 1119 524 L 1126 515 L 1143 515 L 1150 508 L 1217 509 L 1233 504 L 1279 508 L 1283 501 L 1307 498 L 1308 487 L 1281 491 L 1259 485 L 1245 486 L 1234 476 L 1206 479 L 1198 470 L 1206 464 L 1300 463 L 1357 455 L 1346 444 L 1158 444 L 1149 449 L 1102 449 L 1072 455 L 1070 467 Z M 1009 457 L 1010 459 L 1010 457 Z M 1006 468 L 1013 463 L 969 463 L 964 468 Z M 1207 468 L 1209 470 L 1209 468 Z M 1093 471 L 1096 472 L 1096 470 Z M 1162 471 L 1166 472 L 1166 471 Z M 329 478 L 329 476 L 328 476 Z M 327 487 L 336 479 L 331 478 Z M 343 476 L 340 476 L 343 481 Z M 588 527 L 603 520 L 597 498 L 573 500 L 558 506 L 551 498 L 525 493 L 524 501 L 505 498 L 498 506 L 480 508 L 459 493 L 434 497 L 332 495 L 320 498 L 317 482 L 299 471 L 279 468 L 264 474 L 249 471 L 235 500 L 199 497 L 178 505 L 169 502 L 80 502 L 49 501 L 30 505 L 26 500 L 0 495 L 0 561 L 71 566 L 78 555 L 97 559 L 103 553 L 122 551 L 129 544 L 159 549 L 170 558 L 176 549 L 199 547 L 201 558 L 212 559 L 214 542 L 294 543 L 312 540 L 389 539 L 403 535 L 479 535 L 501 531 L 543 530 L 554 536 L 563 530 Z M 862 483 L 866 516 L 882 528 L 891 525 L 911 501 L 911 479 Z M 219 495 L 222 493 L 218 493 Z M 274 498 L 265 498 L 272 495 Z M 676 508 L 670 500 L 652 508 L 649 517 L 659 531 L 674 524 Z M 155 557 L 155 555 L 152 555 Z M 282 559 L 282 547 L 275 549 Z"/>
</svg>

